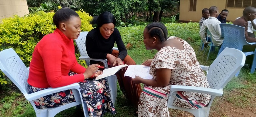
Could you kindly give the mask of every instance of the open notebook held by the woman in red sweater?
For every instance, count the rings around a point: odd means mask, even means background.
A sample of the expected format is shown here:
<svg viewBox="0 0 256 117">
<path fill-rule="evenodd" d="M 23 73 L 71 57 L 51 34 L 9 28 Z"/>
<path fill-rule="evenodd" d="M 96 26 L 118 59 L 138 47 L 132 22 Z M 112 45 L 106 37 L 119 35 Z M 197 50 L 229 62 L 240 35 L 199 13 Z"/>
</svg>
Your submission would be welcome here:
<svg viewBox="0 0 256 117">
<path fill-rule="evenodd" d="M 104 69 L 103 74 L 96 77 L 95 80 L 99 80 L 99 79 L 102 79 L 104 77 L 114 75 L 114 74 L 116 74 L 117 71 L 119 71 L 120 69 L 122 69 L 123 67 L 126 67 L 126 66 L 128 66 L 128 65 L 125 64 L 125 65 L 119 65 L 119 66 L 115 66 L 115 67 L 112 67 L 112 68 Z"/>
</svg>

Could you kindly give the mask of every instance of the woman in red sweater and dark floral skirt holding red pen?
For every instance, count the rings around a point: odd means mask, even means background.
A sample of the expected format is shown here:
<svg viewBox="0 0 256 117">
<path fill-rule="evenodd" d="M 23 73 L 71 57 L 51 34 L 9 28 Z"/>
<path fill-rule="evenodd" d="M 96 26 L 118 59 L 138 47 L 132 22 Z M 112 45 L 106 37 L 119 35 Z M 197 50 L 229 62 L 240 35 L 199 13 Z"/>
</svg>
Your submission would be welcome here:
<svg viewBox="0 0 256 117">
<path fill-rule="evenodd" d="M 63 7 L 54 14 L 53 22 L 57 27 L 54 33 L 44 36 L 34 49 L 29 68 L 28 93 L 78 82 L 90 116 L 102 116 L 107 111 L 115 114 L 106 79 L 93 79 L 102 74 L 98 70 L 99 65 L 93 64 L 86 69 L 76 60 L 73 40 L 81 32 L 79 15 Z M 70 89 L 43 96 L 33 102 L 37 108 L 44 109 L 74 101 Z"/>
</svg>

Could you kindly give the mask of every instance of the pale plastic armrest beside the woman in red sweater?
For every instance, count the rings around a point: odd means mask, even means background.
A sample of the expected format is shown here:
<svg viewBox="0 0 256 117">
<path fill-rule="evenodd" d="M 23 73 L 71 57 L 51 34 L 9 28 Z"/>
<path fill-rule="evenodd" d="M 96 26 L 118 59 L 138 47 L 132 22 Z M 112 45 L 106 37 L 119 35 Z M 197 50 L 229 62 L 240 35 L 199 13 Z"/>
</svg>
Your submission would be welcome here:
<svg viewBox="0 0 256 117">
<path fill-rule="evenodd" d="M 45 90 L 40 90 L 40 91 L 37 91 L 35 93 L 27 94 L 27 95 L 24 95 L 24 96 L 28 101 L 32 101 L 32 100 L 38 99 L 40 97 L 50 95 L 52 93 L 57 93 L 57 92 L 64 91 L 64 90 L 69 90 L 69 89 L 78 89 L 79 90 L 79 88 L 80 88 L 79 84 L 74 83 L 74 84 L 70 84 L 70 85 L 67 85 L 67 86 L 63 86 L 63 87 L 49 88 L 49 89 L 45 89 Z"/>
</svg>

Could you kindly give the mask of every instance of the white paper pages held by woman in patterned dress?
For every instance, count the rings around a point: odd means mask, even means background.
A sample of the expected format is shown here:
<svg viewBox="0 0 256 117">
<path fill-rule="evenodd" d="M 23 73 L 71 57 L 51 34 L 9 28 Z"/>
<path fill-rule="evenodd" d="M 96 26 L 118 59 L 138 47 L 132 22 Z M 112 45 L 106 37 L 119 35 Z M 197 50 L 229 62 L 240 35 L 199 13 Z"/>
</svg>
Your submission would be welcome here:
<svg viewBox="0 0 256 117">
<path fill-rule="evenodd" d="M 152 79 L 153 76 L 149 74 L 149 70 L 149 66 L 129 65 L 126 72 L 124 73 L 124 76 L 130 76 L 132 78 L 135 78 L 136 75 L 144 79 Z"/>
</svg>

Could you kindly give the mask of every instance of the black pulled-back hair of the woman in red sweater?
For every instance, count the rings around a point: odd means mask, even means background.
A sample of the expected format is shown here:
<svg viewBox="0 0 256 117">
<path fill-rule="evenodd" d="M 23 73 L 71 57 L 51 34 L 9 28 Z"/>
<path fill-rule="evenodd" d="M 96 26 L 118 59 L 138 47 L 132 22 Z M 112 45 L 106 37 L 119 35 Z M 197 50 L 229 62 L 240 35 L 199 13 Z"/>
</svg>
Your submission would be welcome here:
<svg viewBox="0 0 256 117">
<path fill-rule="evenodd" d="M 63 6 L 53 15 L 53 23 L 58 28 L 60 22 L 68 21 L 73 16 L 79 17 L 79 15 L 74 10 Z"/>
</svg>

